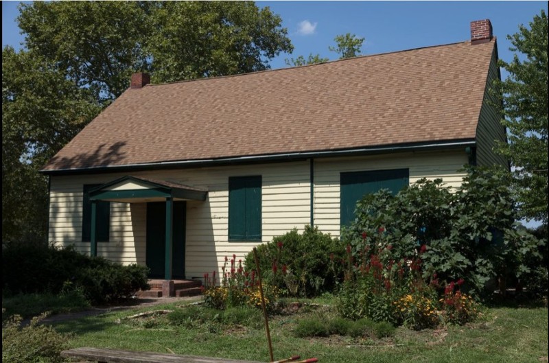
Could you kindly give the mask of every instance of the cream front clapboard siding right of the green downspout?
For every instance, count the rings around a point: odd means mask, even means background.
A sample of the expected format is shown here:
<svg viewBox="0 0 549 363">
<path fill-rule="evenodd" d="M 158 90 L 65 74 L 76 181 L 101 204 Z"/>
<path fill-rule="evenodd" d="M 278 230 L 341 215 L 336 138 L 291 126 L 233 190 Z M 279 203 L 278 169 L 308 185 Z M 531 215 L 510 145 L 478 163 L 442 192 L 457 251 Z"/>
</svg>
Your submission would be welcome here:
<svg viewBox="0 0 549 363">
<path fill-rule="evenodd" d="M 465 148 L 454 152 L 417 152 L 353 159 L 318 159 L 314 162 L 314 225 L 334 237 L 340 235 L 340 173 L 408 168 L 410 184 L 421 178 L 442 178 L 449 187 L 462 183 L 467 164 Z"/>
</svg>

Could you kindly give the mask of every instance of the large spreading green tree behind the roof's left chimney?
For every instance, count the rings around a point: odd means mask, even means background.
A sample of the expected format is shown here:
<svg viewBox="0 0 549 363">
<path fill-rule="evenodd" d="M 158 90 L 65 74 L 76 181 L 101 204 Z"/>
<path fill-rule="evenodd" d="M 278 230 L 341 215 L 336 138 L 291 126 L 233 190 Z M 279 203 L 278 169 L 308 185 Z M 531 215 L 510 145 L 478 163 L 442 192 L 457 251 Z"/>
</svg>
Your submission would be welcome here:
<svg viewBox="0 0 549 363">
<path fill-rule="evenodd" d="M 25 45 L 102 102 L 135 71 L 172 82 L 268 69 L 292 51 L 281 18 L 241 1 L 35 1 L 21 5 Z"/>
</svg>

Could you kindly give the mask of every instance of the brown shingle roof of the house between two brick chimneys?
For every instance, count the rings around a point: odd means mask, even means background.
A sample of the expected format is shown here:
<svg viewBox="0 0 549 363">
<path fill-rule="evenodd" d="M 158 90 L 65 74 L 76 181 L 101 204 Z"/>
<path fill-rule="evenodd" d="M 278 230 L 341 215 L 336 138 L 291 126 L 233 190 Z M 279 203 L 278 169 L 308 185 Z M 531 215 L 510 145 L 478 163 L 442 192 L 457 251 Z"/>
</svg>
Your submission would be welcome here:
<svg viewBox="0 0 549 363">
<path fill-rule="evenodd" d="M 128 89 L 45 171 L 473 139 L 495 39 Z"/>
</svg>

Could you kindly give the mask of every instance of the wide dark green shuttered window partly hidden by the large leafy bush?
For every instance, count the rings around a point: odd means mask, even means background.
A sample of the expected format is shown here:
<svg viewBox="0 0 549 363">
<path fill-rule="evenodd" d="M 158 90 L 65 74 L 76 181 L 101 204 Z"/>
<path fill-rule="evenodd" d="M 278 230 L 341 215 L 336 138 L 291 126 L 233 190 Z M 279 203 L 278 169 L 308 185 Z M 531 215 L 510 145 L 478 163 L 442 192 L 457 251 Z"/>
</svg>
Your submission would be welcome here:
<svg viewBox="0 0 549 363">
<path fill-rule="evenodd" d="M 364 194 L 389 189 L 393 194 L 408 185 L 408 169 L 374 170 L 340 174 L 340 226 L 348 226 L 355 219 L 356 203 Z"/>
</svg>

